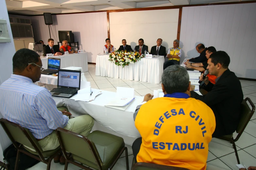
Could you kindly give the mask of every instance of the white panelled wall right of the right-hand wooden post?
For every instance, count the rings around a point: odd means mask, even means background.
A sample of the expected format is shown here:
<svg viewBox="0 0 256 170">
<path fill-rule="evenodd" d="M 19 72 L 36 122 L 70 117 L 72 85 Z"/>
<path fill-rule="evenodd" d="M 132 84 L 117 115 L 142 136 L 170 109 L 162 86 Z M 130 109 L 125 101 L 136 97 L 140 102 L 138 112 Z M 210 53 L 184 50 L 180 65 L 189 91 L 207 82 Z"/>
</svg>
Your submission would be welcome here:
<svg viewBox="0 0 256 170">
<path fill-rule="evenodd" d="M 229 69 L 237 77 L 256 78 L 256 3 L 183 7 L 180 47 L 184 57 L 197 57 L 203 43 L 230 56 Z"/>
</svg>

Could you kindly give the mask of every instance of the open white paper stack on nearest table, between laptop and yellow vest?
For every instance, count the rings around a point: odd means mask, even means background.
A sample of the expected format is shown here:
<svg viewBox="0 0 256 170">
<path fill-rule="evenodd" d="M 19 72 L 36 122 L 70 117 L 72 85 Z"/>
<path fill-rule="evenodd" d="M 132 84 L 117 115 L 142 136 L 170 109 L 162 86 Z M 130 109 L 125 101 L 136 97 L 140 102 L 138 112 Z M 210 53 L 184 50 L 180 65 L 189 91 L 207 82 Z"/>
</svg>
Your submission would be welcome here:
<svg viewBox="0 0 256 170">
<path fill-rule="evenodd" d="M 116 97 L 111 100 L 106 106 L 119 110 L 125 110 L 134 100 L 134 89 L 126 87 L 117 87 Z"/>
</svg>

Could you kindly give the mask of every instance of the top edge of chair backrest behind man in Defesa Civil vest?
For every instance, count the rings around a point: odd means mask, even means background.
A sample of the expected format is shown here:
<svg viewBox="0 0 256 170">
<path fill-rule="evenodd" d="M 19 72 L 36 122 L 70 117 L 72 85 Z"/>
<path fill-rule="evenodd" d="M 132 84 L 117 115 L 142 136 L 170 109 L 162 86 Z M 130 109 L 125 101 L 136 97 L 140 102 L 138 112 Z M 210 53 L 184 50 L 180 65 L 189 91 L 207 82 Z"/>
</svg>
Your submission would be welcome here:
<svg viewBox="0 0 256 170">
<path fill-rule="evenodd" d="M 189 170 L 187 168 L 180 168 L 175 166 L 168 166 L 168 165 L 159 165 L 154 163 L 144 163 L 139 162 L 135 163 L 132 167 L 132 170 Z"/>
</svg>

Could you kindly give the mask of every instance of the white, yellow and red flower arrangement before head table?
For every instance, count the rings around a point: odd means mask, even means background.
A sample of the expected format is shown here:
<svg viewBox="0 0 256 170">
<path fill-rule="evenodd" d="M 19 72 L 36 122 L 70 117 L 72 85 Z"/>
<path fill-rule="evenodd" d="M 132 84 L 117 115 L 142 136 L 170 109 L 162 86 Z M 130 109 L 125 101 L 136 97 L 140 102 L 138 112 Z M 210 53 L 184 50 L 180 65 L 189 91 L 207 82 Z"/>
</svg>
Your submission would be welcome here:
<svg viewBox="0 0 256 170">
<path fill-rule="evenodd" d="M 115 63 L 115 65 L 122 65 L 123 68 L 126 65 L 134 64 L 137 61 L 141 60 L 143 58 L 143 54 L 140 54 L 139 52 L 131 52 L 131 51 L 120 51 L 116 50 L 114 52 L 111 52 L 109 55 L 109 61 Z"/>
</svg>

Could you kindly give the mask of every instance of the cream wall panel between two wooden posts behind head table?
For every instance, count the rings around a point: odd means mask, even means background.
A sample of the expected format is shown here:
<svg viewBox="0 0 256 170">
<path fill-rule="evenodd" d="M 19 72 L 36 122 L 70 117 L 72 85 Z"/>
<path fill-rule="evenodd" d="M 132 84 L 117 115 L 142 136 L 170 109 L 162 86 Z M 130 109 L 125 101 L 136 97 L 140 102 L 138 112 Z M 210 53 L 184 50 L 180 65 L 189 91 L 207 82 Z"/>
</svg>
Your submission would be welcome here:
<svg viewBox="0 0 256 170">
<path fill-rule="evenodd" d="M 134 49 L 143 38 L 150 51 L 157 39 L 162 38 L 162 46 L 167 52 L 177 38 L 179 9 L 111 12 L 109 18 L 111 44 L 116 50 L 122 45 L 122 39 Z"/>
</svg>

